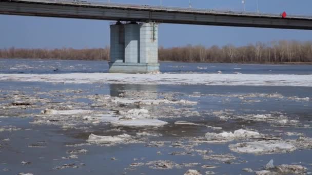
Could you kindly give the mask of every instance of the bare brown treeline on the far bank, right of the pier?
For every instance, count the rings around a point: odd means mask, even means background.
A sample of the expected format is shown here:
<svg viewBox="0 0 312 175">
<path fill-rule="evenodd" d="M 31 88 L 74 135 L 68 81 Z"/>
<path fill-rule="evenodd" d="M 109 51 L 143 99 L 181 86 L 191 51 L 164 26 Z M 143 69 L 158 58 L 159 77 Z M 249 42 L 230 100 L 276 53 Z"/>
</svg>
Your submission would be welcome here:
<svg viewBox="0 0 312 175">
<path fill-rule="evenodd" d="M 235 47 L 185 46 L 160 48 L 160 60 L 196 62 L 312 62 L 312 41 L 257 42 Z"/>
</svg>

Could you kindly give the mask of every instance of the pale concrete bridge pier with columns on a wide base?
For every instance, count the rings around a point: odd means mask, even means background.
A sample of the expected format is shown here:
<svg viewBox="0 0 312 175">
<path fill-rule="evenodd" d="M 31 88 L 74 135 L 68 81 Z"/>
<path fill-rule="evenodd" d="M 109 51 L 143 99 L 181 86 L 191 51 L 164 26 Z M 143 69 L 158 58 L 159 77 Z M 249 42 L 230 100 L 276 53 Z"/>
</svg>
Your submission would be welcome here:
<svg viewBox="0 0 312 175">
<path fill-rule="evenodd" d="M 110 73 L 159 71 L 158 24 L 117 22 L 110 26 Z"/>
</svg>

